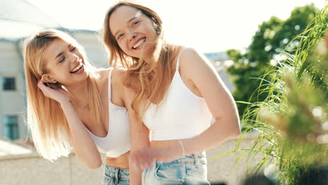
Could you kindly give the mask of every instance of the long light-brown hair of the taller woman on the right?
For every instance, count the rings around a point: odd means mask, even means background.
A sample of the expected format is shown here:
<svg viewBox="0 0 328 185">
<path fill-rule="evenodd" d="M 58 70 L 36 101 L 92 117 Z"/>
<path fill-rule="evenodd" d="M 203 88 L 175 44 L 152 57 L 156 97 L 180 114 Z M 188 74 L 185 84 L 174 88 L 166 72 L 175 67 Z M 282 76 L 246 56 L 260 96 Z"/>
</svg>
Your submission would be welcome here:
<svg viewBox="0 0 328 185">
<path fill-rule="evenodd" d="M 153 21 L 153 26 L 158 34 L 158 41 L 162 43 L 161 46 L 156 46 L 161 47 L 157 64 L 147 64 L 142 58 L 126 55 L 118 46 L 115 36 L 109 28 L 109 18 L 121 6 L 136 8 Z M 132 102 L 132 109 L 135 110 L 139 120 L 142 121 L 144 112 L 150 104 L 160 104 L 168 91 L 175 72 L 175 66 L 172 66 L 172 64 L 177 57 L 177 53 L 179 53 L 179 46 L 163 40 L 162 20 L 155 11 L 132 1 L 119 1 L 109 8 L 104 19 L 103 40 L 109 50 L 109 64 L 114 67 L 123 66 L 128 69 L 124 78 L 124 85 L 132 88 L 137 93 L 135 100 Z M 117 64 L 117 62 L 119 63 Z"/>
</svg>

